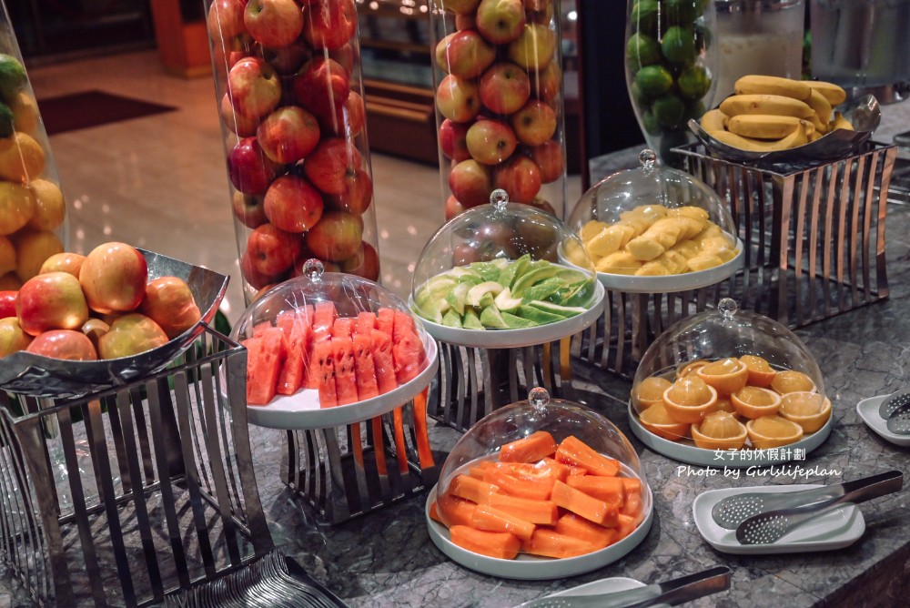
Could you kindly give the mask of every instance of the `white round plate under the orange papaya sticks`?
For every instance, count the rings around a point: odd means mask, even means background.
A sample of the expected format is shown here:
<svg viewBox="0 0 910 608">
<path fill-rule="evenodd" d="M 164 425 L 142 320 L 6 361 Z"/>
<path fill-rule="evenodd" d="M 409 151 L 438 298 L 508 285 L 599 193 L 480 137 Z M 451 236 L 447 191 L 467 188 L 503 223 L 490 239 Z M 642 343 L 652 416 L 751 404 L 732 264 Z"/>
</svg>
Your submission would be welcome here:
<svg viewBox="0 0 910 608">
<path fill-rule="evenodd" d="M 629 473 L 624 465 L 623 471 Z M 427 529 L 430 532 L 430 539 L 441 552 L 445 553 L 455 562 L 462 566 L 470 568 L 479 573 L 490 574 L 491 576 L 501 576 L 507 579 L 521 579 L 544 581 L 550 579 L 560 579 L 566 576 L 575 576 L 576 574 L 588 573 L 591 570 L 602 568 L 608 563 L 616 562 L 637 547 L 648 535 L 651 530 L 651 524 L 654 521 L 654 502 L 651 488 L 647 483 L 642 483 L 642 488 L 648 489 L 648 496 L 645 497 L 645 503 L 648 505 L 648 512 L 644 520 L 639 524 L 634 532 L 626 536 L 622 541 L 615 542 L 609 547 L 579 555 L 577 557 L 564 557 L 555 559 L 551 557 L 539 557 L 537 555 L 528 555 L 519 553 L 514 560 L 503 560 L 497 557 L 487 557 L 462 549 L 460 546 L 451 542 L 449 529 L 430 518 L 430 504 L 436 500 L 436 486 L 430 490 L 427 496 L 427 503 L 424 506 L 424 515 L 427 518 Z M 619 591 L 619 590 L 617 590 Z"/>
</svg>

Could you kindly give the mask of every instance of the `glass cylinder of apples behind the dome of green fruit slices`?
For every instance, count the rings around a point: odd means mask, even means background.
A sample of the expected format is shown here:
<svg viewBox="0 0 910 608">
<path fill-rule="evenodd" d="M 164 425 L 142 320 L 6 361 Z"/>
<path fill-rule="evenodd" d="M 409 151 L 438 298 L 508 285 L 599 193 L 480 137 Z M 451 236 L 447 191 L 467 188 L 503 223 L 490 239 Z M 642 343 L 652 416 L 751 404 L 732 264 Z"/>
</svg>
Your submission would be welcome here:
<svg viewBox="0 0 910 608">
<path fill-rule="evenodd" d="M 430 0 L 446 219 L 497 188 L 564 217 L 559 17 L 557 0 Z"/>
</svg>

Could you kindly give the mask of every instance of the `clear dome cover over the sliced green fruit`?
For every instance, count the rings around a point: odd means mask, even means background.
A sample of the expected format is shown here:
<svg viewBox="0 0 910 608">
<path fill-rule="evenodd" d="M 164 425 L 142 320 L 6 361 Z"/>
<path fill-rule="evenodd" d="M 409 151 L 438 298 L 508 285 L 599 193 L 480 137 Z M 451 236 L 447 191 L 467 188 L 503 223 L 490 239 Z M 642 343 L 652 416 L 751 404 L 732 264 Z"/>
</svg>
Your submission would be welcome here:
<svg viewBox="0 0 910 608">
<path fill-rule="evenodd" d="M 589 308 L 595 299 L 593 265 L 584 255 L 571 266 L 561 262 L 565 248 L 581 248 L 581 240 L 565 223 L 541 208 L 510 203 L 505 190 L 494 190 L 489 205 L 470 208 L 450 219 L 423 248 L 413 274 L 414 309 L 421 317 L 440 323 L 452 301 L 448 288 L 464 282 L 466 273 L 475 275 L 476 285 L 508 282 L 503 277 L 516 279 L 531 270 L 539 270 L 541 280 L 551 278 L 552 273 L 565 279 L 564 289 L 541 299 Z M 551 265 L 558 267 L 558 272 L 550 269 Z M 522 282 L 525 287 L 534 284 L 533 277 Z M 558 281 L 554 279 L 551 284 Z M 521 297 L 518 293 L 511 295 Z"/>
</svg>

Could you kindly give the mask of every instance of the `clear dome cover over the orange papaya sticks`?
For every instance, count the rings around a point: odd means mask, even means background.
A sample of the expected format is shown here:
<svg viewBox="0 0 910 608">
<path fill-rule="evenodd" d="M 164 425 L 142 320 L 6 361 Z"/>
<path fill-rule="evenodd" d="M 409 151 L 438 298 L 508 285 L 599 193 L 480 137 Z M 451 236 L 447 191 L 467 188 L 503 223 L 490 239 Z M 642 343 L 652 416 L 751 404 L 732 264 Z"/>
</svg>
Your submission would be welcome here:
<svg viewBox="0 0 910 608">
<path fill-rule="evenodd" d="M 493 411 L 461 437 L 442 465 L 438 493 L 450 491 L 452 480 L 480 461 L 499 460 L 502 446 L 536 431 L 549 432 L 557 445 L 573 436 L 594 451 L 619 461 L 622 465 L 619 476 L 637 477 L 642 481 L 642 488 L 647 486 L 638 454 L 616 425 L 588 407 L 568 400 L 550 399 L 547 390 L 535 388 L 527 400 Z M 642 491 L 642 501 L 642 512 L 649 512 L 650 491 Z M 450 526 L 453 522 L 447 521 L 444 502 L 438 504 L 440 519 Z"/>
</svg>

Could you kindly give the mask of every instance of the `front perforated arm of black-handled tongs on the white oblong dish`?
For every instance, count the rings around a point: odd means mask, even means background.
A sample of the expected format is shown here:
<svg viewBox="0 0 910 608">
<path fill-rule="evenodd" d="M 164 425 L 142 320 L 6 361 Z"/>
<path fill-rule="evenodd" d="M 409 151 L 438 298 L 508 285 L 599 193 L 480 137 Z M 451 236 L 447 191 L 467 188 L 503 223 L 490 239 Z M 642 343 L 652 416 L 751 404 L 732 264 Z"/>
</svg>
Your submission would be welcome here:
<svg viewBox="0 0 910 608">
<path fill-rule="evenodd" d="M 789 509 L 763 512 L 750 517 L 736 528 L 736 540 L 741 544 L 772 544 L 784 538 L 801 523 L 834 511 L 846 502 L 856 504 L 899 491 L 904 486 L 904 473 L 888 471 L 862 480 L 847 481 L 841 485 L 844 486 L 844 493 L 835 498 Z"/>
</svg>

